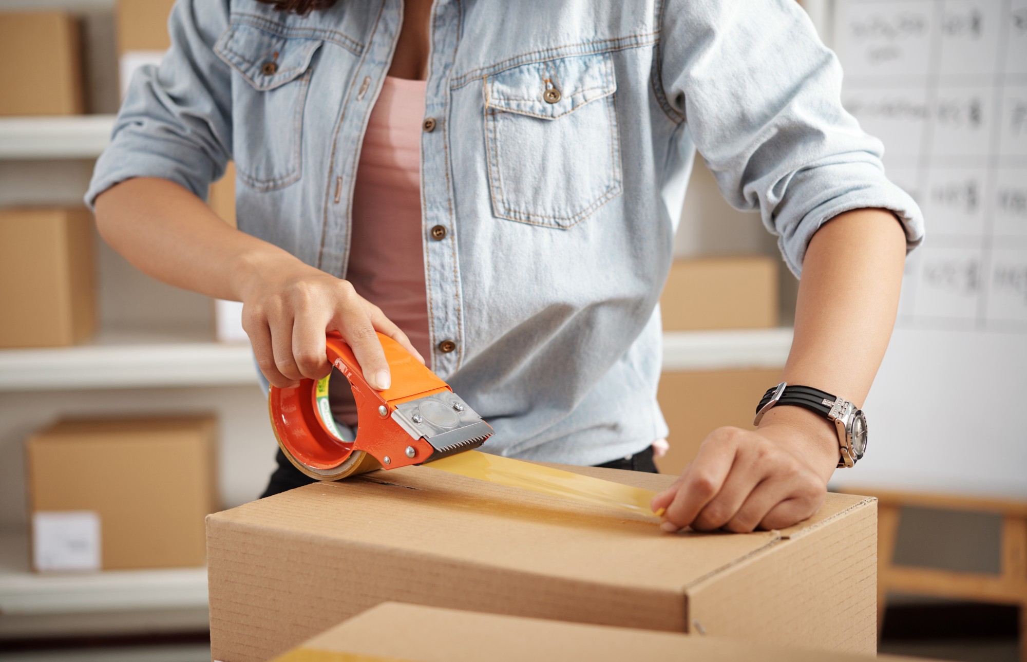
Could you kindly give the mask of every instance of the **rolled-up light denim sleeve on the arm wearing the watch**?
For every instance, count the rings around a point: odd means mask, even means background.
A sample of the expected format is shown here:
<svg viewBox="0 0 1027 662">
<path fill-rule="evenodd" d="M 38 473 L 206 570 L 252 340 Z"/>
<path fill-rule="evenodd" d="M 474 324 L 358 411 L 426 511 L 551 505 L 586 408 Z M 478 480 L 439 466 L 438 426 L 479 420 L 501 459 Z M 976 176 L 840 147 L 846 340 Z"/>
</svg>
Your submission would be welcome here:
<svg viewBox="0 0 1027 662">
<path fill-rule="evenodd" d="M 798 275 L 825 222 L 883 208 L 923 240 L 916 203 L 887 180 L 883 145 L 841 105 L 842 71 L 795 0 L 669 0 L 662 85 L 727 201 L 759 210 Z"/>
</svg>

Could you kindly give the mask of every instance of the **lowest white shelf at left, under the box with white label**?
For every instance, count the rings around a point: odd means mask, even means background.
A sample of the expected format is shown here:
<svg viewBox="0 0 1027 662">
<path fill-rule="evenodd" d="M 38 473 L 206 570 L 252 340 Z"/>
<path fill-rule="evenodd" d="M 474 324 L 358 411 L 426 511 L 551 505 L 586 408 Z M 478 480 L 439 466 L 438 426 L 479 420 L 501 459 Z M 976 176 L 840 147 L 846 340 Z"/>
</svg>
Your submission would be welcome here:
<svg viewBox="0 0 1027 662">
<path fill-rule="evenodd" d="M 39 575 L 24 534 L 0 535 L 0 614 L 42 616 L 206 609 L 206 568 Z"/>
</svg>

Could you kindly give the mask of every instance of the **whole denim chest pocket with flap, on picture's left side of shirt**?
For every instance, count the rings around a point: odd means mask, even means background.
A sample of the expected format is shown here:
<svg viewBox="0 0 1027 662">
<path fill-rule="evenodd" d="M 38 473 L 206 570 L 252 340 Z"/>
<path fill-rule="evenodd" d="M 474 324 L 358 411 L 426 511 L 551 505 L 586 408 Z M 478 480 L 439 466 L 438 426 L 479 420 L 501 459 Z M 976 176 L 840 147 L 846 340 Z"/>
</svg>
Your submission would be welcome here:
<svg viewBox="0 0 1027 662">
<path fill-rule="evenodd" d="M 234 70 L 232 156 L 239 179 L 268 191 L 300 179 L 303 111 L 320 39 L 233 24 L 215 52 Z"/>
</svg>

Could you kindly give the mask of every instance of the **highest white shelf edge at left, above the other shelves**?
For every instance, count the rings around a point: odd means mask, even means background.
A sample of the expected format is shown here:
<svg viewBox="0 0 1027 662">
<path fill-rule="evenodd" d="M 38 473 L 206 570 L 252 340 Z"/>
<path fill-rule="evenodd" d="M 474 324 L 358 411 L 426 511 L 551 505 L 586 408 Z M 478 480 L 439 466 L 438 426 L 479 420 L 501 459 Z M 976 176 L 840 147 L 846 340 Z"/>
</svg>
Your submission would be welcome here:
<svg viewBox="0 0 1027 662">
<path fill-rule="evenodd" d="M 0 118 L 0 158 L 96 158 L 114 115 Z"/>
</svg>

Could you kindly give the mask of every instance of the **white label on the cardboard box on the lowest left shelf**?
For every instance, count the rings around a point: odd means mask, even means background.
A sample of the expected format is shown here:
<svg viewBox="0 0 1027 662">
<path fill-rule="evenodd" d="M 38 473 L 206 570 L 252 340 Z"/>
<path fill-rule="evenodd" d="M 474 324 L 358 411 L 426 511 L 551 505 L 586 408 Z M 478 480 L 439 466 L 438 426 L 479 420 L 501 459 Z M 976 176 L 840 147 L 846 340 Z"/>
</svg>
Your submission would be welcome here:
<svg viewBox="0 0 1027 662">
<path fill-rule="evenodd" d="M 37 571 L 99 571 L 100 513 L 92 510 L 33 513 L 32 556 Z"/>
</svg>

